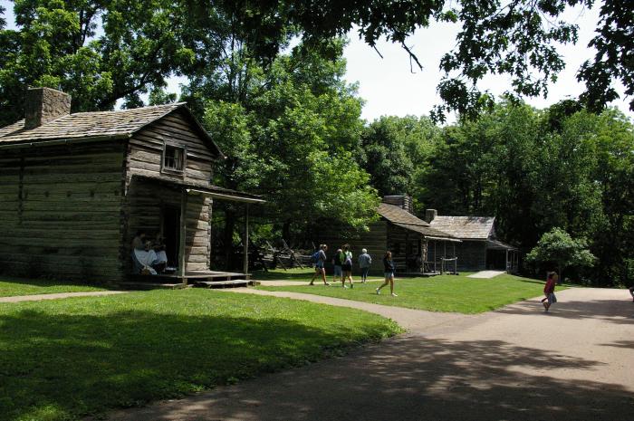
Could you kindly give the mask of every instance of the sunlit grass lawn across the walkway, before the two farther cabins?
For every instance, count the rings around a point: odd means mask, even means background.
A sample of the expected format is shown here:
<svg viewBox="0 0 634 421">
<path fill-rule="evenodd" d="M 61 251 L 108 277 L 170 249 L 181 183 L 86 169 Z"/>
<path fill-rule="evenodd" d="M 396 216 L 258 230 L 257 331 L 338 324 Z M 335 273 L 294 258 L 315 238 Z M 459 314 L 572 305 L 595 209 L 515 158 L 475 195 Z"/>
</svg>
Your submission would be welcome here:
<svg viewBox="0 0 634 421">
<path fill-rule="evenodd" d="M 341 284 L 326 287 L 283 286 L 259 287 L 268 291 L 305 292 L 348 300 L 407 307 L 428 311 L 479 313 L 498 309 L 506 304 L 543 294 L 543 282 L 502 274 L 492 279 L 466 278 L 465 275 L 439 275 L 433 278 L 397 278 L 394 289 L 399 296 L 389 294 L 389 286 L 374 292 L 376 282 L 355 283 L 354 289 Z M 558 286 L 558 290 L 562 287 Z"/>
</svg>

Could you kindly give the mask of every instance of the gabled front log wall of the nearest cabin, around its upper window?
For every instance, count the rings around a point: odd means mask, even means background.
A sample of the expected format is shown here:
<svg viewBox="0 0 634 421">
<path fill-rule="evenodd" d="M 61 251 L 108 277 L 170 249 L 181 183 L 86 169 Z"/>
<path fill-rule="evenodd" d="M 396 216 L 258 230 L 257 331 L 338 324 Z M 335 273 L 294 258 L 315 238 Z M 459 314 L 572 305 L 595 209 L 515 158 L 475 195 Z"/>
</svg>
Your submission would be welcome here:
<svg viewBox="0 0 634 421">
<path fill-rule="evenodd" d="M 182 175 L 161 172 L 161 160 L 165 143 L 187 148 L 186 168 Z M 133 175 L 185 181 L 209 186 L 212 177 L 212 152 L 204 140 L 192 129 L 187 117 L 177 111 L 140 130 L 131 139 L 128 151 L 126 185 L 128 202 L 124 208 L 123 227 L 126 247 L 122 258 L 130 254 L 130 243 L 138 229 L 149 235 L 161 229 L 161 212 L 166 206 L 180 206 L 180 193 L 169 187 L 159 186 L 147 180 L 133 181 Z M 131 182 L 131 184 L 130 184 Z M 211 260 L 211 211 L 212 201 L 203 196 L 187 197 L 187 271 L 209 269 Z"/>
</svg>

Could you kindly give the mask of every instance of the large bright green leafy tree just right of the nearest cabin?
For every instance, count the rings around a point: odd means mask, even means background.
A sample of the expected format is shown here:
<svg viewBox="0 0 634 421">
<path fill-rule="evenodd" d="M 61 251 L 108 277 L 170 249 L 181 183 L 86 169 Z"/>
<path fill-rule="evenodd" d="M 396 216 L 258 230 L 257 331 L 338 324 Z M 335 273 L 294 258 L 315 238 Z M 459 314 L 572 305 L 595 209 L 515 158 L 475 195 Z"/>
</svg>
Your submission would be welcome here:
<svg viewBox="0 0 634 421">
<path fill-rule="evenodd" d="M 266 219 L 286 240 L 305 238 L 323 217 L 362 227 L 378 205 L 368 174 L 352 156 L 361 101 L 343 81 L 343 43 L 333 41 L 331 48 L 338 51 L 334 62 L 300 45 L 266 70 L 243 67 L 250 82 L 235 98 L 240 101 L 207 102 L 204 121 L 229 157 L 218 168 L 219 184 L 262 194 Z M 228 210 L 226 241 L 236 216 Z"/>
</svg>

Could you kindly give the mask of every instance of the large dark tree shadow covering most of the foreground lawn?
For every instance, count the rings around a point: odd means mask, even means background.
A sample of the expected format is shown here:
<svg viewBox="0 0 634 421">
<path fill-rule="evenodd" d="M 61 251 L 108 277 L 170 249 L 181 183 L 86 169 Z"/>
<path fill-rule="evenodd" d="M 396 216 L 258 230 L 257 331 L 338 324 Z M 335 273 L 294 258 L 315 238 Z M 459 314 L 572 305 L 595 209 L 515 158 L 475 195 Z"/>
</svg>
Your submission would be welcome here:
<svg viewBox="0 0 634 421">
<path fill-rule="evenodd" d="M 139 406 L 385 335 L 380 322 L 348 330 L 275 318 L 15 311 L 0 317 L 0 418 L 65 420 Z"/>
</svg>

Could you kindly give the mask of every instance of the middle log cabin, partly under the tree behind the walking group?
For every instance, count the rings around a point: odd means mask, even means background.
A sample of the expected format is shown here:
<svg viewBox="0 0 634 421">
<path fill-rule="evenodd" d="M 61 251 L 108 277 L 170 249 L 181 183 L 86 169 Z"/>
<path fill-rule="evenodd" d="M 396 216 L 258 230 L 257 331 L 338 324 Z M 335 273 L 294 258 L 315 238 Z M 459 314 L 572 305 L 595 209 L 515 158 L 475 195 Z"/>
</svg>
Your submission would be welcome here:
<svg viewBox="0 0 634 421">
<path fill-rule="evenodd" d="M 414 215 L 410 196 L 384 196 L 377 214 L 378 221 L 371 223 L 367 231 L 326 225 L 318 240 L 329 246 L 329 254 L 334 254 L 342 244 L 350 244 L 353 273 L 360 273 L 356 259 L 363 248 L 372 256 L 371 274 L 383 273 L 381 262 L 388 250 L 392 252 L 398 276 L 456 273 L 454 245 L 460 240 Z M 330 262 L 326 264 L 327 271 L 331 272 L 331 268 Z"/>
</svg>

